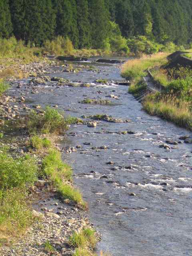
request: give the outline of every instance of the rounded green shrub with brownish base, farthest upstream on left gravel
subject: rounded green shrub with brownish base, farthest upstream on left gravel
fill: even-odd
[[[47,106],[43,115],[32,110],[29,116],[27,127],[30,133],[42,132],[60,133],[67,130],[68,122],[58,110]]]

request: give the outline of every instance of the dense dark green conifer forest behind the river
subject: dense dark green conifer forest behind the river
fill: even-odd
[[[0,0],[0,37],[41,45],[69,37],[76,48],[102,48],[118,24],[124,38],[160,44],[192,40],[191,0]]]

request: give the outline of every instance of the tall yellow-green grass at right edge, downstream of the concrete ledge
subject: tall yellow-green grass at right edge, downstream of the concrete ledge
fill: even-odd
[[[148,95],[143,102],[144,110],[151,115],[174,122],[192,130],[191,103],[173,95]]]

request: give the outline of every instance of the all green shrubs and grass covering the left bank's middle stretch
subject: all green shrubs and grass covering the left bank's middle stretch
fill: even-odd
[[[65,118],[50,107],[45,109],[44,115],[32,111],[27,124],[31,134],[28,153],[12,156],[9,148],[0,147],[0,244],[22,235],[33,222],[29,188],[38,179],[49,180],[60,198],[80,208],[86,207],[82,195],[72,184],[72,168],[62,161],[61,153],[49,140],[53,134],[65,132],[69,120],[74,122],[73,118]],[[34,154],[42,159],[41,165]]]

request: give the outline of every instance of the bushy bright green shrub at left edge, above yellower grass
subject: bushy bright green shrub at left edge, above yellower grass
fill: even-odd
[[[38,167],[34,158],[12,158],[7,152],[0,154],[0,189],[25,187],[37,179]]]

